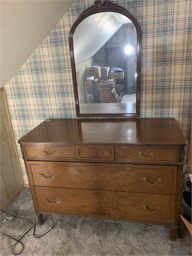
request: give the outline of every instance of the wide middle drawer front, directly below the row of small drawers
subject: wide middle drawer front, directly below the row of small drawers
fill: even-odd
[[[176,166],[27,161],[36,186],[174,194]]]

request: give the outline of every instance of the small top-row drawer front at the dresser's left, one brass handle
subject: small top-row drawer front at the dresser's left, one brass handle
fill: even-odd
[[[75,146],[25,146],[26,157],[77,159]]]

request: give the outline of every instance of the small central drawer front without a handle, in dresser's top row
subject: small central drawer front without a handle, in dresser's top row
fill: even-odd
[[[114,160],[113,146],[77,146],[77,159]]]

